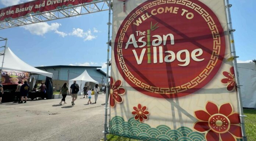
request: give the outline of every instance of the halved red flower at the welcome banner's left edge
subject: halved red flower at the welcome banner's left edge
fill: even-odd
[[[122,103],[123,99],[121,97],[122,94],[125,93],[124,88],[120,88],[122,85],[122,81],[118,80],[114,82],[114,79],[110,78],[110,106],[115,107],[115,103]]]

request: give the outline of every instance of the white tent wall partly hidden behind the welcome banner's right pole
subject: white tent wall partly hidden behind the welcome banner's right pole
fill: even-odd
[[[243,107],[256,108],[256,64],[238,63]]]

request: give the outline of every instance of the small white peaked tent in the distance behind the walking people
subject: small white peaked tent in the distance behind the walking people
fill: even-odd
[[[81,75],[79,75],[77,78],[71,79],[69,81],[69,87],[73,84],[74,81],[77,81],[77,84],[80,87],[79,92],[83,91],[83,86],[85,85],[86,82],[93,82],[95,84],[99,84],[98,81],[95,81],[92,77],[90,77],[90,75],[87,73],[87,71],[85,70]]]

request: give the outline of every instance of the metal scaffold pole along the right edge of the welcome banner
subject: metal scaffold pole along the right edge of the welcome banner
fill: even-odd
[[[240,114],[240,120],[241,120],[241,129],[242,129],[242,138],[243,141],[247,141],[246,138],[246,133],[245,133],[245,120],[243,115],[243,105],[242,105],[242,97],[241,97],[241,89],[239,88],[240,82],[239,82],[239,75],[238,75],[238,69],[237,69],[237,57],[235,53],[235,42],[234,42],[234,34],[233,32],[235,31],[232,27],[232,21],[231,21],[231,13],[230,13],[230,7],[232,6],[229,4],[229,0],[225,0],[226,4],[226,11],[227,11],[227,18],[228,18],[228,29],[230,31],[230,44],[231,44],[231,54],[234,56],[234,71],[235,71],[235,81],[237,83],[238,89],[237,89],[237,94],[238,94],[238,110]]]

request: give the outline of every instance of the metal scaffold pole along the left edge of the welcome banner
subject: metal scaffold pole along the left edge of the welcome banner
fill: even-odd
[[[109,131],[108,131],[108,128],[107,128],[107,110],[109,109],[108,108],[108,97],[109,97],[109,87],[110,87],[110,85],[109,85],[109,66],[110,66],[110,62],[109,62],[109,50],[110,50],[110,43],[111,43],[111,41],[110,41],[110,28],[111,28],[111,25],[112,25],[112,23],[111,23],[111,0],[109,0],[109,22],[107,23],[107,25],[109,26],[108,28],[108,38],[107,38],[107,76],[106,76],[106,83],[108,84],[107,85],[107,88],[106,88],[106,100],[105,100],[105,123],[104,123],[104,131],[103,131],[103,133],[104,133],[104,141],[107,141],[107,134],[109,133]],[[106,86],[105,86],[106,87]]]

